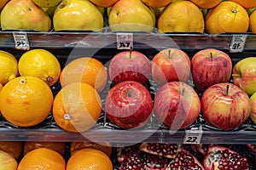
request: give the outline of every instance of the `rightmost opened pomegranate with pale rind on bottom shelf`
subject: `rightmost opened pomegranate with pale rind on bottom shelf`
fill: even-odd
[[[221,145],[210,145],[203,161],[206,170],[248,170],[247,157]]]

